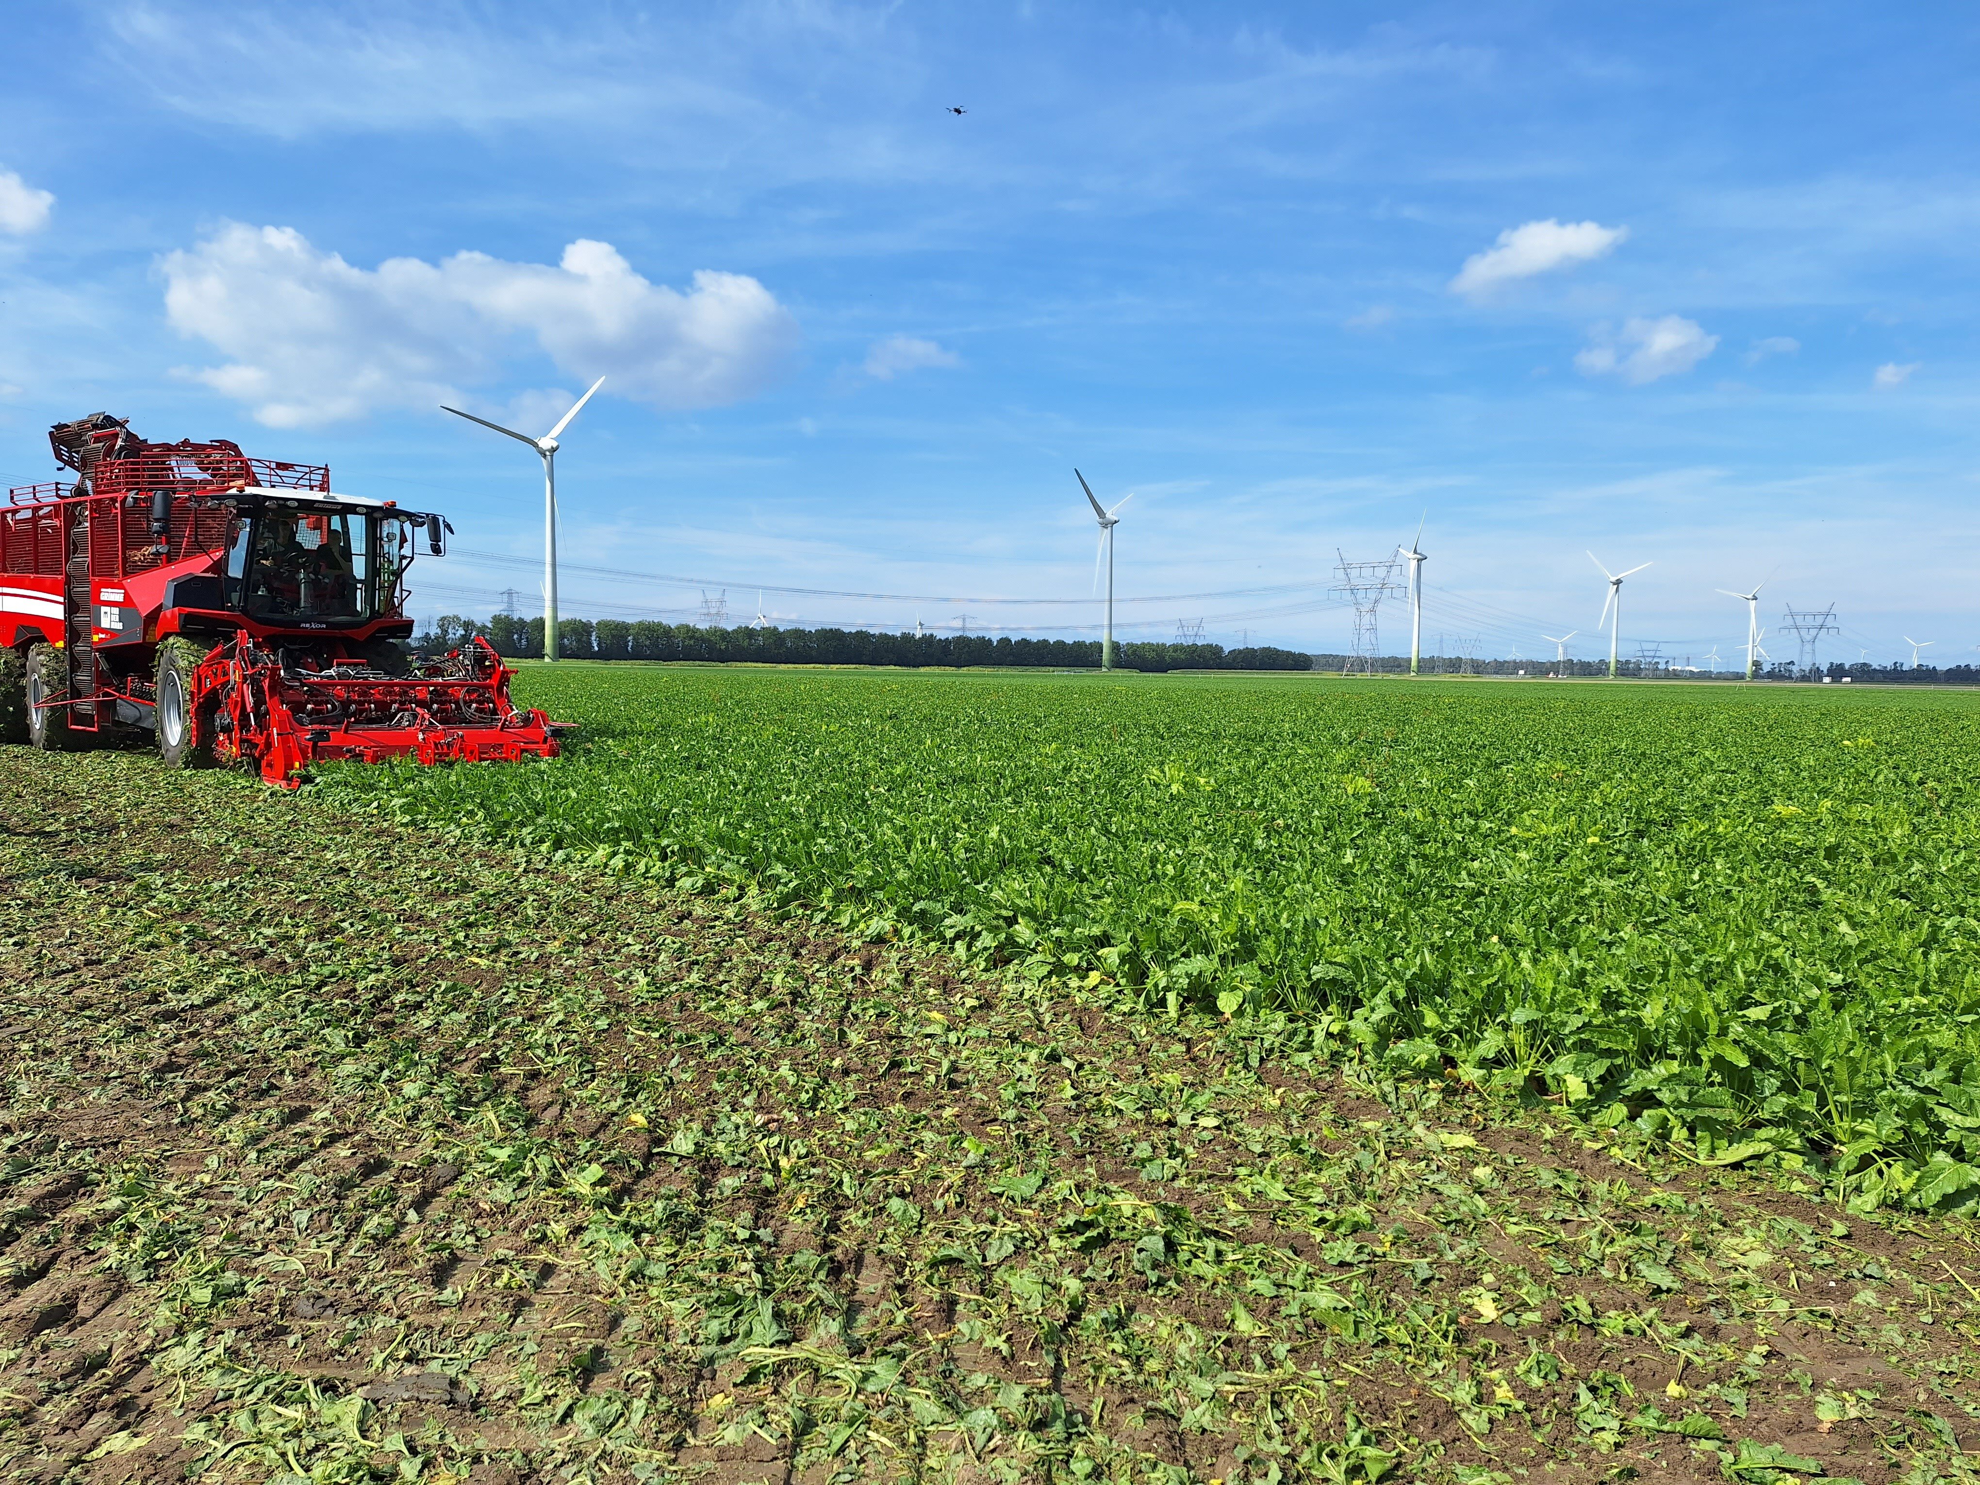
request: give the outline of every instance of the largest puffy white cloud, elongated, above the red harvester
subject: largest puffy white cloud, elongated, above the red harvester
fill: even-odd
[[[531,343],[618,396],[705,408],[756,392],[796,343],[752,277],[699,271],[683,293],[582,238],[556,267],[465,251],[362,269],[293,228],[230,224],[162,269],[172,325],[234,358],[192,374],[271,428],[432,408]]]

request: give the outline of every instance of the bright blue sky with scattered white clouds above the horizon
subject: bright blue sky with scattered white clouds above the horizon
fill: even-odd
[[[0,473],[97,408],[444,507],[420,612],[1974,655],[1952,6],[14,6]],[[966,109],[948,113],[950,105]],[[471,552],[471,554],[469,554]],[[493,554],[509,562],[493,560]],[[832,598],[776,588],[923,598]],[[1267,592],[1249,594],[1261,588]],[[1238,594],[1166,598],[1168,594]],[[1057,602],[986,602],[1057,600]],[[1065,602],[1075,600],[1075,602]],[[1406,626],[1384,610],[1384,649]],[[1135,628],[1138,626],[1138,628]],[[1768,645],[1792,655],[1792,645]]]

